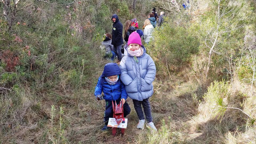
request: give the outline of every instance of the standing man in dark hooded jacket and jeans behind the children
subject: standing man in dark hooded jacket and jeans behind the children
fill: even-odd
[[[112,15],[111,20],[113,22],[111,44],[113,45],[114,52],[118,58],[117,64],[120,64],[120,61],[122,60],[121,47],[123,44],[123,25],[116,14]]]

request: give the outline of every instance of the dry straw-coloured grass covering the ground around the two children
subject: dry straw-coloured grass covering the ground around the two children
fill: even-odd
[[[1,107],[6,111],[1,111],[0,142],[51,143],[51,105],[55,105],[56,111],[59,106],[64,110],[62,129],[66,143],[255,143],[255,128],[248,126],[245,115],[227,110],[220,123],[213,109],[214,97],[222,95],[229,106],[243,108],[255,116],[255,93],[248,91],[250,87],[238,81],[233,85],[218,82],[203,96],[205,90],[198,81],[187,76],[193,72],[181,70],[169,80],[154,81],[155,93],[150,102],[157,133],[151,133],[146,127],[136,128],[138,118],[129,98],[131,113],[127,116],[125,135],[118,131],[113,137],[111,131],[102,132],[105,101],[95,101],[94,86],[88,86],[89,89],[82,90],[78,105],[76,96],[67,91],[43,94],[37,96],[37,100],[29,96],[33,94],[22,93],[17,96],[20,99],[17,107],[10,106],[12,98],[2,97]],[[101,70],[97,70],[95,78],[100,73]],[[58,121],[56,113],[54,128],[58,128]]]

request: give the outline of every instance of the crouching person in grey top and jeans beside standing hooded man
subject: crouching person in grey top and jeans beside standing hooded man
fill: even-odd
[[[117,56],[113,50],[113,45],[111,45],[111,40],[112,36],[110,33],[106,34],[106,38],[103,40],[103,42],[101,43],[103,46],[105,46],[105,50],[106,50],[106,58],[110,59],[111,61],[114,60],[114,58]]]

